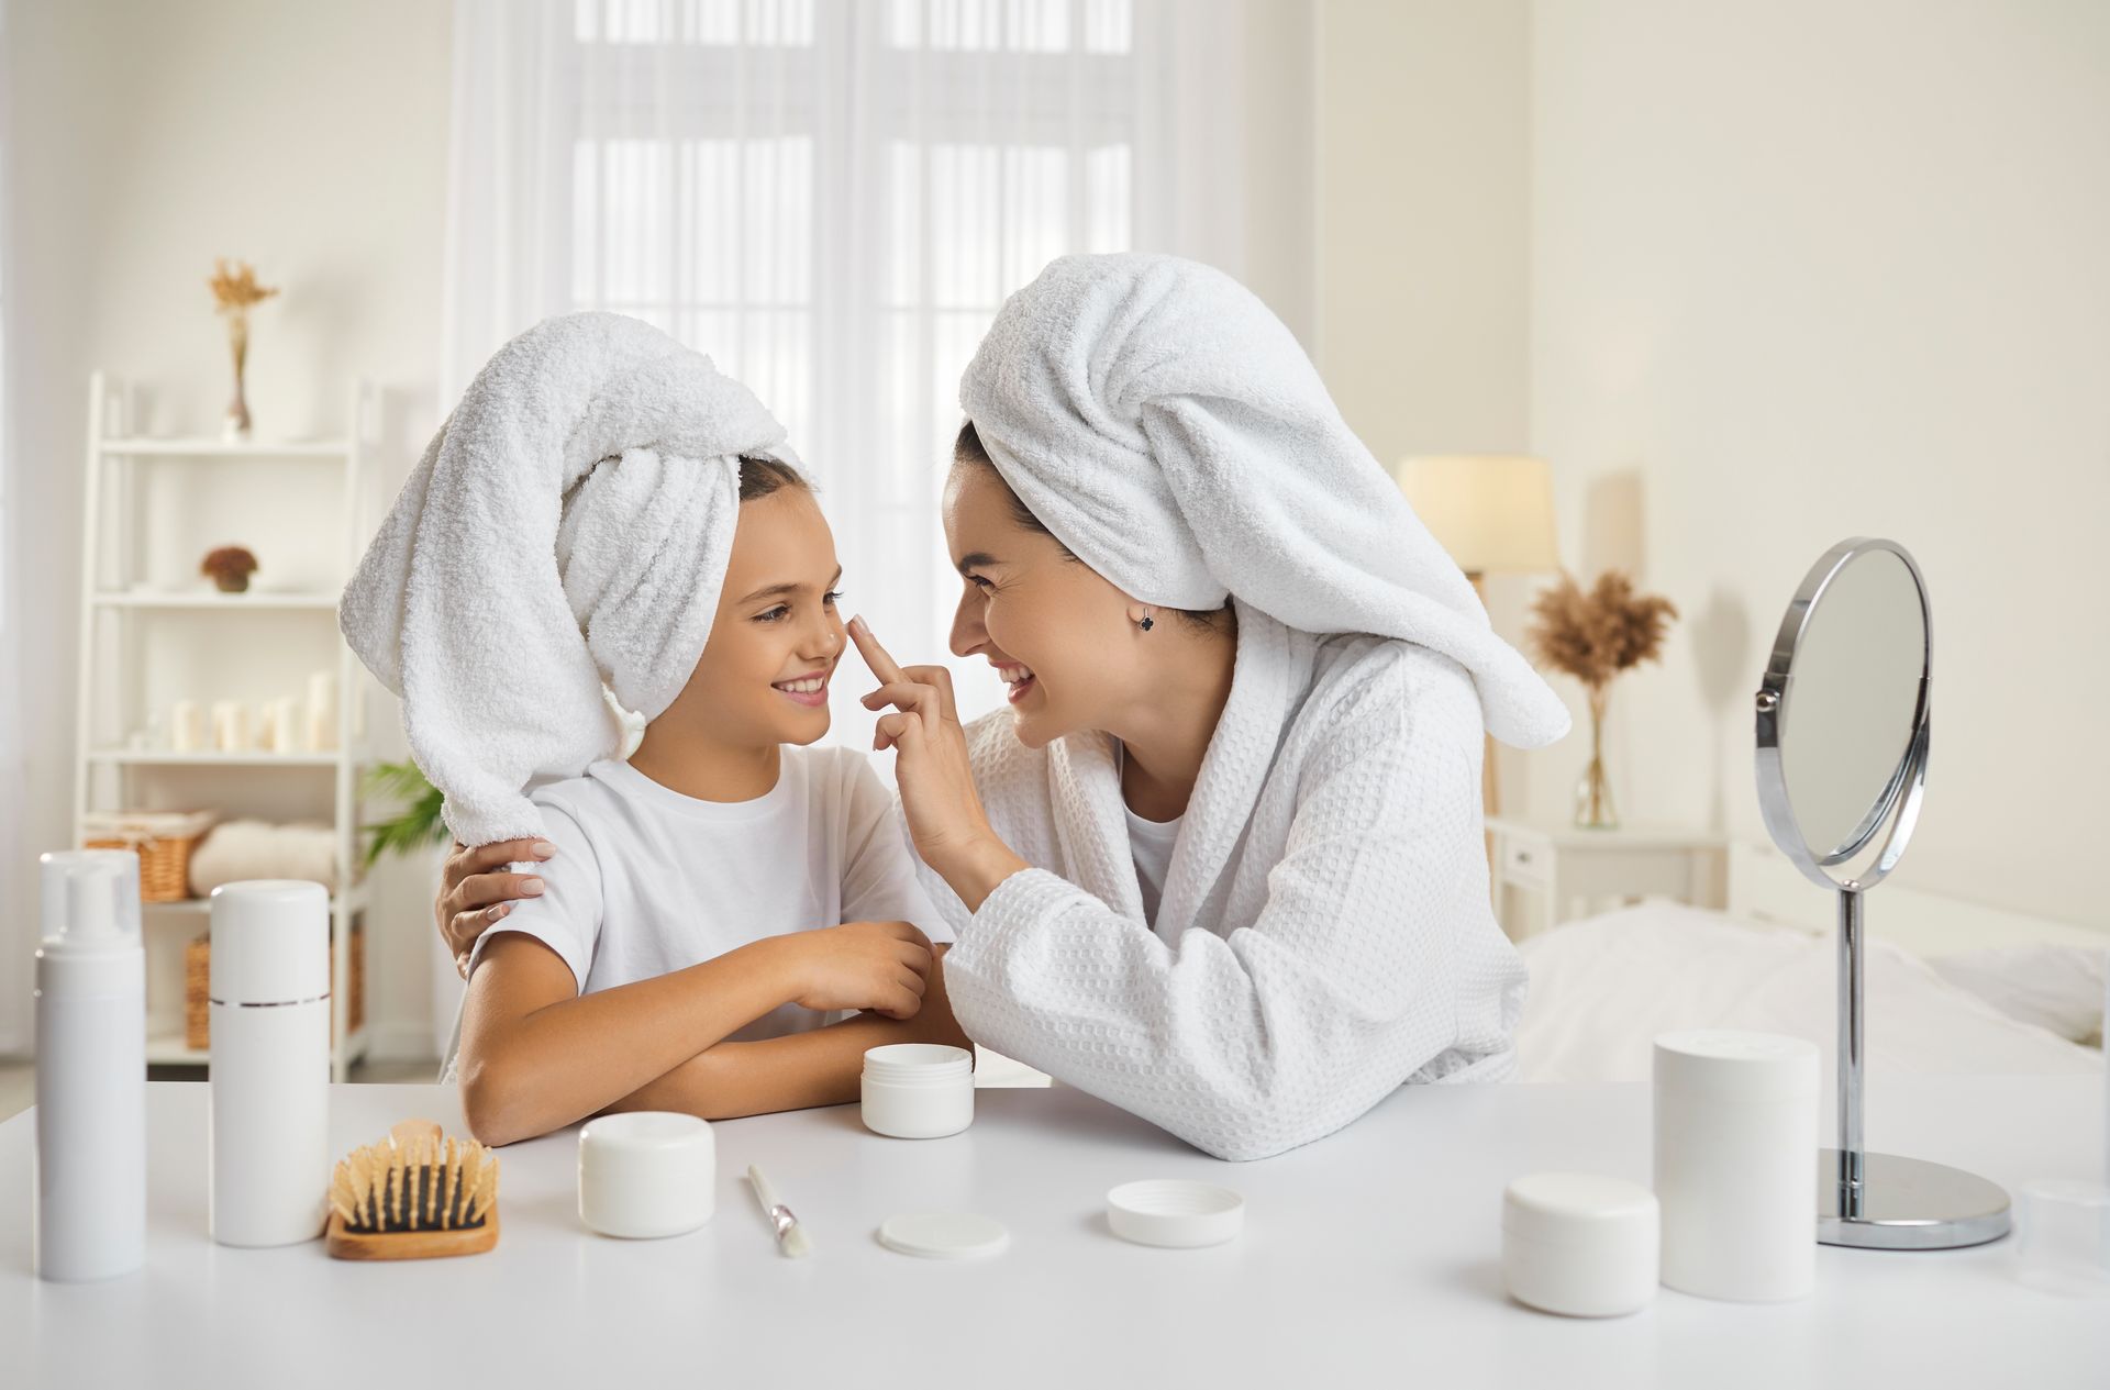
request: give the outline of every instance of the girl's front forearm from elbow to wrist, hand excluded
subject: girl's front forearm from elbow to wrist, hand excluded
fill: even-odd
[[[546,945],[485,947],[462,1015],[462,1109],[485,1143],[563,1128],[724,1042],[795,996],[783,937],[686,970],[574,993]]]

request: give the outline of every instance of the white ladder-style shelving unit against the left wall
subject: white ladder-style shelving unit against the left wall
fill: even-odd
[[[365,1000],[365,1027],[348,1027],[350,979],[352,979],[352,928],[367,907],[367,888],[359,873],[359,780],[369,766],[365,740],[365,671],[350,648],[338,639],[335,610],[338,588],[359,563],[365,542],[361,529],[361,508],[367,498],[367,453],[376,422],[376,392],[365,382],[350,388],[346,437],[283,443],[230,443],[222,439],[146,439],[133,435],[129,392],[116,380],[95,373],[89,382],[89,458],[87,458],[87,510],[82,523],[82,569],[80,569],[80,673],[78,673],[78,751],[74,768],[74,835],[84,839],[84,816],[97,810],[234,810],[245,812],[257,797],[270,804],[321,804],[327,797],[329,825],[338,844],[340,890],[329,903],[329,943],[333,962],[331,989],[331,1076],[346,1080],[348,1067],[367,1050],[373,1019],[371,989]],[[238,496],[249,510],[255,502],[272,494],[272,483],[281,483],[276,472],[298,472],[308,479],[316,468],[335,468],[338,489],[333,515],[327,519],[283,517],[291,527],[270,536],[281,551],[298,551],[295,567],[306,569],[304,584],[289,591],[257,591],[226,595],[203,580],[186,576],[190,586],[173,586],[167,574],[148,574],[150,544],[148,527],[158,519],[152,515],[154,491],[184,489],[190,483],[169,481],[169,470],[198,468],[247,468],[245,479],[255,483]],[[262,475],[262,477],[257,477]],[[306,483],[310,496],[325,489],[323,483]],[[257,521],[251,521],[257,525]],[[312,544],[304,529],[321,529]],[[291,540],[289,540],[291,538]],[[327,540],[325,540],[327,538]],[[262,540],[262,538],[260,538]],[[207,536],[194,542],[190,555],[203,555],[205,546],[222,544],[226,538]],[[333,551],[335,563],[327,563],[321,551]],[[316,561],[316,563],[310,563]],[[194,563],[194,559],[190,561]],[[335,574],[323,574],[333,569]],[[158,586],[156,586],[158,578]],[[215,626],[243,622],[279,624],[321,624],[312,635],[287,635],[283,629],[266,633],[264,645],[234,648],[236,652],[270,654],[272,645],[312,643],[327,650],[327,662],[338,673],[338,732],[331,751],[298,753],[219,753],[184,751],[165,747],[135,747],[133,734],[152,728],[152,717],[160,709],[150,707],[152,681],[143,671],[141,650],[154,637],[154,624],[207,622]],[[215,631],[215,641],[226,648],[241,641],[238,635]],[[325,648],[327,643],[327,648]],[[186,698],[211,698],[215,692],[190,692]],[[232,696],[219,696],[232,698]],[[327,778],[323,785],[314,785]],[[152,783],[152,785],[150,785]],[[327,791],[325,791],[327,787]],[[173,802],[156,806],[154,802]],[[302,816],[308,818],[308,816]],[[181,943],[203,930],[209,922],[209,905],[203,899],[179,903],[148,903],[148,1063],[150,1065],[205,1065],[209,1053],[194,1050],[184,1042],[181,1002]],[[169,937],[175,937],[173,949]],[[169,962],[175,968],[169,968]],[[371,979],[371,977],[369,977]],[[173,991],[173,1008],[171,1008]],[[171,1027],[173,1019],[173,1027]]]

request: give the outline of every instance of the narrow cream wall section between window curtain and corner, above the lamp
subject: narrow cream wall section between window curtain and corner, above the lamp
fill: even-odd
[[[1530,428],[1530,4],[1321,0],[1312,356],[1380,462]]]

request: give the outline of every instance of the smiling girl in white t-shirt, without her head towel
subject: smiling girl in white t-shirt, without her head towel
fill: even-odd
[[[738,496],[688,686],[627,764],[534,793],[540,892],[471,953],[462,1109],[485,1143],[601,1109],[840,1105],[865,1048],[966,1046],[893,795],[861,753],[804,747],[844,650],[827,521],[772,460],[741,460]],[[867,1012],[823,1027],[846,1008]]]

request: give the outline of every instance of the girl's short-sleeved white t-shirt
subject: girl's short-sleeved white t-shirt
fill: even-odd
[[[842,922],[952,930],[916,882],[895,799],[855,749],[785,747],[776,787],[753,802],[698,802],[625,761],[532,793],[555,858],[483,943],[521,932],[572,966],[580,993],[713,960],[764,937]],[[736,1040],[821,1027],[783,1004]]]

